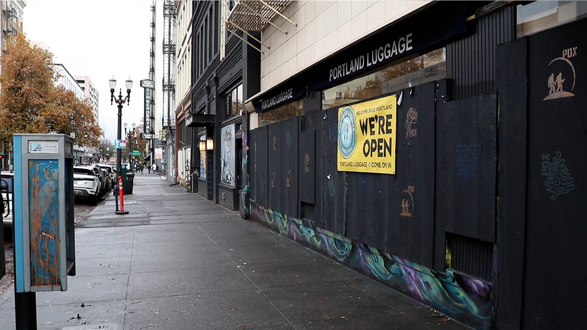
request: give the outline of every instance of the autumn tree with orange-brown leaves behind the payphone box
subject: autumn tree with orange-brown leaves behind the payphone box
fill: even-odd
[[[21,33],[6,42],[0,74],[0,142],[12,145],[14,133],[75,134],[79,146],[98,146],[102,129],[87,100],[56,86],[53,54],[31,46]]]

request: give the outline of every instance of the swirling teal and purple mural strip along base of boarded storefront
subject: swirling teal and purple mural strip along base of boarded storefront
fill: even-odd
[[[323,228],[310,228],[302,220],[266,207],[252,207],[251,211],[253,220],[346,267],[464,324],[491,328],[492,288],[483,281],[424,267]]]

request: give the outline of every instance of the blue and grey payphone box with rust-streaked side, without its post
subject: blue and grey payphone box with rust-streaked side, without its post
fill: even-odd
[[[14,134],[16,292],[66,291],[75,275],[73,139]]]

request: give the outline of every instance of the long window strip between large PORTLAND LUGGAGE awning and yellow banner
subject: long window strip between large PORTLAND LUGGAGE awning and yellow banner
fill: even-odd
[[[322,109],[443,78],[446,78],[446,50],[441,48],[324,90]]]

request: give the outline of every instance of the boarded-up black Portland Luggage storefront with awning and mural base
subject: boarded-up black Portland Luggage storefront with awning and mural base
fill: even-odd
[[[473,328],[580,328],[587,21],[519,35],[521,6],[432,3],[248,100],[259,118],[303,109],[244,121],[251,218]],[[376,95],[325,101],[333,86],[438,53]],[[389,149],[363,149],[393,150],[393,163],[341,163],[341,114],[382,100],[393,116],[351,128],[393,130]]]

